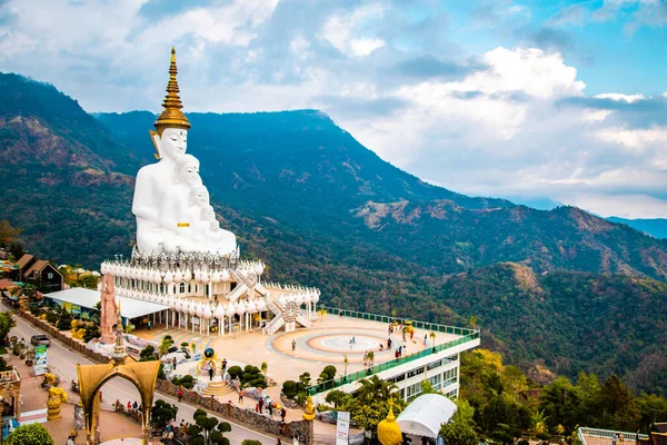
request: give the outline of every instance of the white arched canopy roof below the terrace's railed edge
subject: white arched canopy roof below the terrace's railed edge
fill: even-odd
[[[441,394],[425,394],[408,405],[396,419],[400,431],[426,437],[438,437],[440,425],[456,413],[456,404]]]

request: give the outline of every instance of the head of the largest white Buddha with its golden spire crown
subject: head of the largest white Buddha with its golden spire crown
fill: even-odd
[[[171,48],[171,65],[169,66],[169,83],[167,83],[167,96],[162,102],[165,110],[153,123],[156,129],[151,130],[151,138],[158,150],[158,159],[176,160],[186,154],[188,149],[188,130],[190,122],[181,108],[183,108],[178,96],[178,82],[176,80],[176,49]]]

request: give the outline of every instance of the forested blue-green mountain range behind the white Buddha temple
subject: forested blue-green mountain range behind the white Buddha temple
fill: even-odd
[[[522,366],[617,372],[635,389],[667,389],[653,375],[665,364],[643,360],[664,356],[667,327],[646,328],[645,313],[628,310],[665,318],[666,240],[574,207],[426,184],[317,110],[188,119],[188,151],[222,226],[245,256],[267,261],[266,279],[319,286],[323,303],[351,309],[445,324],[475,316],[487,346]],[[153,121],[148,111],[93,116],[50,85],[0,75],[3,218],[57,261],[94,268],[127,256]],[[617,330],[586,330],[595,326]]]

